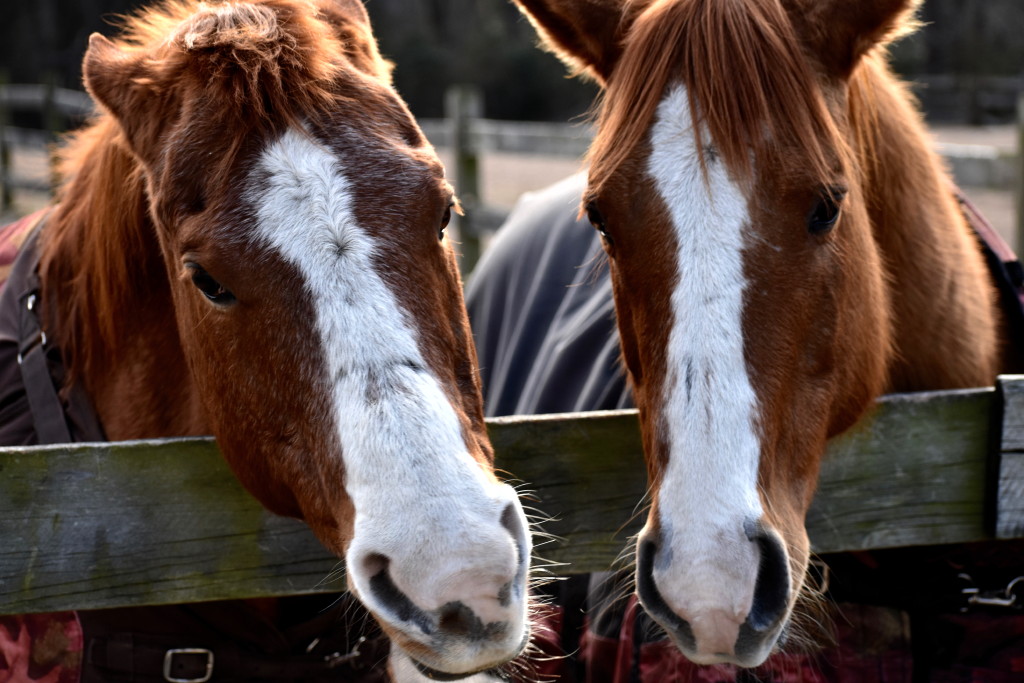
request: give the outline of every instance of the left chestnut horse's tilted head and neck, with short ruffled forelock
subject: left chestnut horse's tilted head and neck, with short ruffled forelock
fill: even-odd
[[[357,0],[169,0],[92,36],[43,327],[111,439],[213,433],[427,672],[528,635],[437,156]]]

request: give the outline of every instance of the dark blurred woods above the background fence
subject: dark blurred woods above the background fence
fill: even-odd
[[[856,0],[851,0],[856,1]],[[0,0],[0,80],[80,88],[80,62],[93,31],[131,0]],[[593,86],[565,78],[537,49],[532,28],[510,0],[368,0],[395,82],[419,117],[439,117],[445,88],[474,83],[485,115],[565,121],[584,114]],[[998,123],[1013,118],[1024,77],[1024,0],[927,0],[928,23],[895,50],[916,82],[929,118]]]

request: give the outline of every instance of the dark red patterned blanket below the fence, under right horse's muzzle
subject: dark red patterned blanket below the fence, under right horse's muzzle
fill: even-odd
[[[836,605],[836,642],[813,653],[778,653],[757,669],[700,667],[669,640],[637,638],[630,598],[617,638],[587,629],[579,652],[586,683],[1021,683],[1024,618],[1019,613],[940,613],[912,621],[893,607]],[[912,629],[911,629],[912,623]],[[914,638],[927,654],[914,661]],[[919,643],[921,648],[922,644]],[[639,654],[639,660],[637,660]],[[916,678],[914,670],[916,669]]]

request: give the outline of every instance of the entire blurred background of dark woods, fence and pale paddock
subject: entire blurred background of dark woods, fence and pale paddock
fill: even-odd
[[[46,143],[89,111],[80,91],[88,35],[112,34],[117,14],[141,4],[0,3],[4,218],[49,199]],[[534,29],[510,0],[367,0],[367,8],[395,62],[396,87],[455,178],[472,262],[476,238],[522,193],[581,168],[596,88],[567,79],[554,56],[537,49]],[[1022,175],[1024,1],[926,0],[921,18],[922,31],[894,47],[894,67],[910,80],[957,181],[1020,248],[1024,211],[1015,207],[1024,198],[1015,199],[1014,188]]]

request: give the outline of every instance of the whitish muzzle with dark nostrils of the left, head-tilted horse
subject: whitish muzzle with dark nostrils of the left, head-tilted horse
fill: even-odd
[[[518,499],[505,501],[489,522],[478,517],[418,549],[385,551],[386,541],[350,549],[359,597],[431,675],[498,666],[525,644],[529,539]]]

